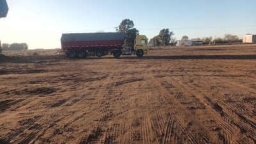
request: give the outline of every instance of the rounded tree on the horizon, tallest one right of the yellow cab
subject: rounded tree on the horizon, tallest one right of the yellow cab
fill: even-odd
[[[170,32],[168,28],[162,29],[158,35],[158,39],[161,42],[161,45],[168,45],[173,35],[173,31]]]

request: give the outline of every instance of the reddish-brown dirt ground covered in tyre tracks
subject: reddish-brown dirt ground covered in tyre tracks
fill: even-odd
[[[0,56],[0,143],[256,143],[256,45],[31,52]]]

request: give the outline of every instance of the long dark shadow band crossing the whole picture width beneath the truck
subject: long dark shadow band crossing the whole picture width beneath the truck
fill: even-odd
[[[240,55],[180,55],[180,56],[120,56],[114,58],[112,56],[102,56],[100,58],[92,56],[83,59],[69,59],[66,56],[1,56],[1,63],[54,63],[61,60],[256,60],[256,54],[240,54]]]

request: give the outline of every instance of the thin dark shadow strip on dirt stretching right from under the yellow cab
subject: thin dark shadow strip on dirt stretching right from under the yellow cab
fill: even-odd
[[[189,56],[125,56],[118,59],[142,59],[142,60],[256,60],[256,54],[245,55],[189,55]]]

